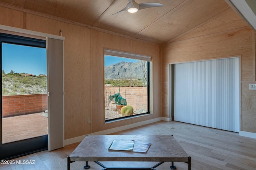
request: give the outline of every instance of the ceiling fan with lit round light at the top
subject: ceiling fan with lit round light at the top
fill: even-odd
[[[134,12],[137,12],[138,10],[143,10],[143,9],[146,9],[146,8],[152,8],[152,7],[160,7],[160,6],[163,6],[163,4],[160,4],[160,3],[141,3],[141,4],[138,4],[137,2],[135,2],[135,0],[128,0],[130,1],[126,7],[122,10],[120,10],[119,12],[116,12],[115,14],[119,14],[119,13],[122,13],[122,12],[125,12],[125,11],[128,11],[130,13],[134,13]],[[114,15],[114,14],[112,14]]]

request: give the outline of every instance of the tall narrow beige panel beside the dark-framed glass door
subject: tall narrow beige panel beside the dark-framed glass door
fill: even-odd
[[[48,60],[48,150],[64,147],[63,40],[46,38]]]

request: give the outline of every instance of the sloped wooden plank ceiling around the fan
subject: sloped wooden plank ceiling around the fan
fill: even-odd
[[[230,9],[225,0],[136,0],[163,7],[112,15],[128,0],[0,0],[24,11],[36,11],[81,23],[91,28],[164,45]]]

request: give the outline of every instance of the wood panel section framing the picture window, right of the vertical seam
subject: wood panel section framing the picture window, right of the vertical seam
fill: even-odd
[[[152,56],[153,69],[153,96],[159,96],[160,85],[160,47],[157,45],[147,44],[143,42],[134,41],[131,39],[110,35],[95,30],[91,30],[91,133],[110,129],[118,126],[129,125],[147,119],[160,117],[160,110],[154,111],[154,114],[132,119],[125,119],[122,121],[107,123],[104,120],[104,49],[114,49],[118,51],[126,51],[130,53],[138,53]],[[160,106],[160,98],[155,97],[153,106]],[[159,108],[159,107],[158,107]]]

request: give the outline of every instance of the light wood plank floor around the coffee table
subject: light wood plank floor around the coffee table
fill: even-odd
[[[256,170],[256,139],[241,137],[238,133],[222,131],[180,122],[159,121],[142,127],[113,133],[112,135],[174,135],[183,149],[192,157],[192,170]],[[35,160],[30,165],[0,165],[2,170],[65,170],[66,157],[78,143],[51,152],[43,151],[16,160]],[[107,166],[152,166],[155,162],[104,162]],[[102,170],[88,162],[90,170]],[[85,162],[73,162],[71,170],[84,170]],[[170,162],[156,170],[170,170]],[[177,170],[187,170],[184,162],[174,162]]]

